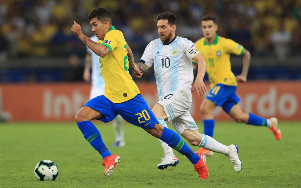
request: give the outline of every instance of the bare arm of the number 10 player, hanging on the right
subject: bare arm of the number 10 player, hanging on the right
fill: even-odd
[[[196,89],[198,95],[202,95],[202,93],[205,95],[207,92],[207,88],[205,86],[205,83],[203,82],[203,78],[206,73],[206,62],[203,56],[201,55],[201,53],[195,55],[192,60],[197,62],[198,67],[197,67],[197,77],[195,79],[194,85],[191,88],[191,92],[193,92],[194,89]]]

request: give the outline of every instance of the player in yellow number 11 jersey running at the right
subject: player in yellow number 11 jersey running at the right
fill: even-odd
[[[201,28],[204,37],[195,43],[195,46],[206,61],[206,72],[210,82],[210,92],[202,102],[200,111],[203,116],[204,134],[213,137],[214,119],[212,111],[216,106],[223,110],[237,123],[247,123],[255,126],[267,126],[274,133],[276,140],[281,138],[277,129],[278,120],[275,117],[264,119],[252,113],[246,113],[238,105],[240,99],[236,95],[237,82],[246,82],[250,65],[250,52],[231,39],[219,36],[217,19],[213,16],[204,16],[201,19]],[[231,71],[230,54],[243,56],[242,72],[234,76]],[[212,155],[213,152],[201,148],[197,152]]]

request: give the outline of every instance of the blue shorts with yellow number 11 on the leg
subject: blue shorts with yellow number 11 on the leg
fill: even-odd
[[[221,83],[216,84],[206,96],[206,99],[221,106],[228,114],[232,106],[239,103],[240,99],[236,95],[237,86],[228,86]]]

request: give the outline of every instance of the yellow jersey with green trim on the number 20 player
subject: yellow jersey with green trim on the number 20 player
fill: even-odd
[[[138,86],[129,74],[128,52],[123,33],[112,26],[104,40],[98,40],[98,43],[109,47],[111,51],[105,57],[99,57],[105,83],[104,96],[113,103],[122,103],[140,94]]]

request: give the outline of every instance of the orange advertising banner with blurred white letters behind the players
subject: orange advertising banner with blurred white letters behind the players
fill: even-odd
[[[150,108],[158,99],[156,83],[137,83]],[[209,86],[208,83],[206,83]],[[11,121],[73,121],[88,101],[91,84],[0,84],[0,107]],[[209,92],[209,88],[208,92]],[[280,120],[301,120],[301,81],[240,83],[237,87],[243,111]],[[202,120],[200,104],[204,96],[193,92],[191,115]],[[213,111],[216,120],[230,120],[222,108]]]

